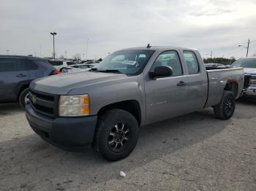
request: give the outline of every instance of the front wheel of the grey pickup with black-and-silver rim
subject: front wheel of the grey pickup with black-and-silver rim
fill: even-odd
[[[99,117],[94,149],[110,161],[127,157],[135,148],[139,127],[135,117],[121,109],[111,109]]]

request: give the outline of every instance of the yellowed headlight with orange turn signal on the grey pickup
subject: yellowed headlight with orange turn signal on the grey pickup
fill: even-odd
[[[89,115],[89,96],[61,95],[59,99],[60,117],[79,117]]]

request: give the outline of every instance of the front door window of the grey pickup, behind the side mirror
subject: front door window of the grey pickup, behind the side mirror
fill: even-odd
[[[173,77],[183,75],[178,53],[174,50],[162,52],[154,62],[152,69],[154,70],[157,66],[170,66],[173,69]]]

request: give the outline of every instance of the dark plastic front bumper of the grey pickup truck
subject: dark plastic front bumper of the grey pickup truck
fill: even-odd
[[[34,112],[27,104],[26,118],[35,133],[56,146],[69,149],[93,142],[97,116],[53,119]]]

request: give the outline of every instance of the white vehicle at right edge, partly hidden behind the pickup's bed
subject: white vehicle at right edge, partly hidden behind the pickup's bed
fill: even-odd
[[[231,67],[244,68],[244,96],[256,98],[256,58],[241,58]]]

